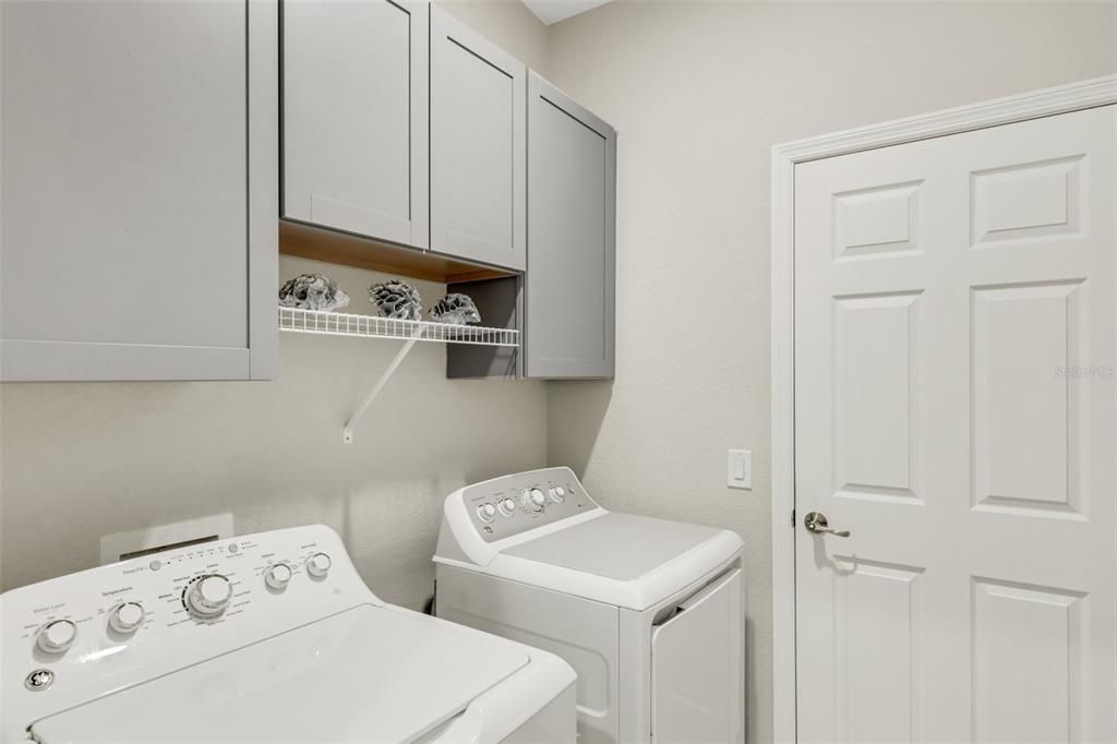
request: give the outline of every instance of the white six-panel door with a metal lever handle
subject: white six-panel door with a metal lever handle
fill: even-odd
[[[1115,142],[796,165],[802,741],[1117,740]]]

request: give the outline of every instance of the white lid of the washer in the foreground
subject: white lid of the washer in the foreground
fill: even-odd
[[[527,664],[504,639],[362,605],[44,718],[31,732],[42,744],[404,742]]]

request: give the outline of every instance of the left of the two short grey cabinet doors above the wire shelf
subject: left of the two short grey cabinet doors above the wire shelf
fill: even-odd
[[[427,247],[428,4],[283,4],[284,217]]]

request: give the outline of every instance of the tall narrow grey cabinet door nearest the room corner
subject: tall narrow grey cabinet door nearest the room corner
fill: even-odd
[[[528,79],[525,374],[613,376],[617,133]]]

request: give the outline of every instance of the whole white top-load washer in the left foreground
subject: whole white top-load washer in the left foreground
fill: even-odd
[[[574,742],[551,654],[376,599],[297,527],[0,595],[0,741]]]

